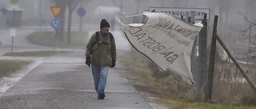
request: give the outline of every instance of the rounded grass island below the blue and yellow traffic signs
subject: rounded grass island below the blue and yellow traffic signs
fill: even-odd
[[[64,34],[62,40],[57,40],[52,31],[37,31],[31,33],[27,37],[27,40],[36,45],[55,46],[60,48],[83,47],[86,45],[86,39],[88,39],[87,32],[71,32],[70,44],[67,43],[67,33],[65,32]]]

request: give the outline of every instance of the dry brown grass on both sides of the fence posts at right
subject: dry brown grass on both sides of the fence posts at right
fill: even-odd
[[[200,107],[240,109],[254,108],[242,107],[242,105],[251,106],[256,103],[256,101],[254,101],[255,94],[248,84],[230,83],[223,80],[225,78],[225,80],[231,81],[234,77],[239,78],[242,76],[232,64],[218,64],[218,66],[215,66],[212,98],[213,103],[216,105],[209,105],[207,103],[201,103],[202,91],[198,91],[200,88],[197,88],[197,85],[187,84],[180,76],[172,72],[159,72],[158,68],[156,68],[150,60],[146,59],[145,56],[142,56],[142,54],[137,52],[126,53],[126,55],[118,59],[125,64],[128,71],[130,71],[127,75],[135,76],[130,76],[130,80],[131,83],[134,83],[134,87],[137,88],[138,91],[158,96],[162,99],[162,103],[167,103],[166,105],[171,104],[171,107],[177,106],[179,108],[180,106],[184,106],[184,108],[192,109],[199,107],[196,105],[205,105]],[[252,76],[255,75],[251,75],[250,77]],[[222,106],[222,104],[226,105]],[[192,105],[192,107],[190,107],[190,105]]]

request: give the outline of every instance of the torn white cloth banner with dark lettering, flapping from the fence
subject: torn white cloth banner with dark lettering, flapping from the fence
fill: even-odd
[[[117,19],[128,41],[165,71],[177,72],[186,81],[194,81],[190,72],[190,54],[202,27],[190,25],[170,14],[143,13],[145,24],[124,24]]]

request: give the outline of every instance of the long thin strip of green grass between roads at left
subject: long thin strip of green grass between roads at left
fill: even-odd
[[[5,53],[3,56],[54,56],[59,53],[58,51],[33,51],[33,52],[22,52],[22,53]]]

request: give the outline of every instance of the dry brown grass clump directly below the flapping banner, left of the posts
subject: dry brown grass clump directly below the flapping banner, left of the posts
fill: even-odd
[[[197,92],[192,85],[184,82],[180,76],[173,72],[160,72],[150,60],[140,53],[127,53],[119,60],[127,66],[132,75],[136,76],[136,78],[130,77],[129,79],[136,80],[137,84],[134,84],[134,87],[139,91],[157,95],[162,99],[187,98],[190,101],[198,99],[194,97]]]

